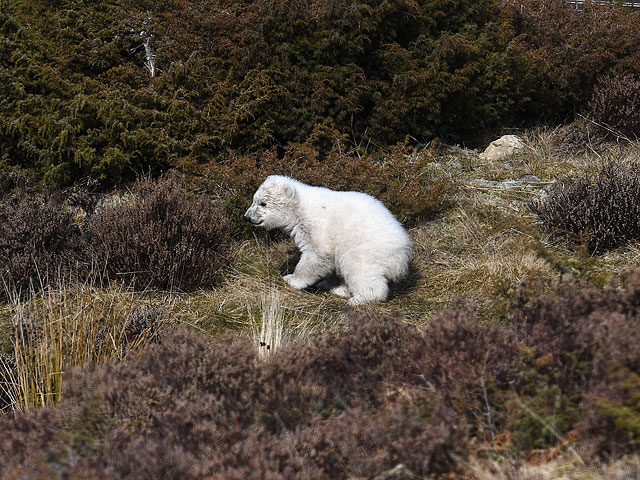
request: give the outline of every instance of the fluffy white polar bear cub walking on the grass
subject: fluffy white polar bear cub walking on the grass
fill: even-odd
[[[389,281],[407,276],[411,240],[377,199],[360,192],[313,187],[271,175],[260,185],[244,218],[280,229],[301,256],[284,280],[293,288],[316,285],[349,298],[349,304],[385,301]],[[330,287],[327,278],[341,283]]]

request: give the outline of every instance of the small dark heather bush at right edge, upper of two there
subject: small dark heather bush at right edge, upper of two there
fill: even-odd
[[[591,116],[605,133],[640,136],[640,78],[608,77],[596,85],[591,97]]]

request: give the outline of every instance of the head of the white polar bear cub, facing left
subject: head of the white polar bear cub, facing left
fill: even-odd
[[[295,201],[295,180],[271,175],[253,195],[253,203],[245,212],[244,219],[268,230],[288,230],[295,223]]]

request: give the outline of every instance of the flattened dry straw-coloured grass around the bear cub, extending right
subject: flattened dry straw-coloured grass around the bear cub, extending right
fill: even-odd
[[[567,147],[567,135],[577,137],[580,148]],[[603,284],[637,263],[640,253],[633,246],[589,258],[551,241],[527,207],[559,176],[595,170],[607,159],[640,158],[638,144],[600,144],[589,135],[585,121],[528,131],[523,152],[495,162],[459,147],[421,151],[436,160],[427,164],[441,172],[439,177],[455,179],[459,188],[443,214],[410,230],[415,244],[411,278],[397,286],[386,304],[368,308],[400,310],[407,320],[424,322],[463,299],[477,305],[482,319],[499,321],[523,280],[569,271]],[[236,263],[221,287],[182,296],[176,306],[203,330],[246,330],[254,324],[248,311],[261,311],[263,292],[275,290],[288,324],[304,321],[315,331],[339,328],[350,309],[344,299],[293,290],[282,281],[295,265],[294,254],[293,243],[284,237],[256,232],[253,240],[234,247]]]

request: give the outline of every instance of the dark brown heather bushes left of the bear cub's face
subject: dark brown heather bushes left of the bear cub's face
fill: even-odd
[[[92,188],[26,188],[0,201],[0,296],[87,278],[186,291],[220,281],[229,226],[213,202],[170,178],[108,201]]]

